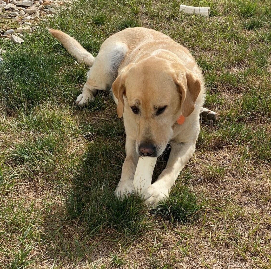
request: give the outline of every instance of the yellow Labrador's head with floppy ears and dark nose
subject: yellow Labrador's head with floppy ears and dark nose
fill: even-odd
[[[201,81],[181,64],[149,57],[125,68],[112,85],[118,99],[117,114],[132,128],[127,136],[136,140],[139,155],[157,157],[173,135],[180,115],[195,108]],[[133,129],[135,134],[129,134]]]

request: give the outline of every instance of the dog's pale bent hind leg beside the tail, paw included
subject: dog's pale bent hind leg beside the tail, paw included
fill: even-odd
[[[87,81],[82,93],[77,97],[76,104],[88,105],[95,100],[97,90],[110,89],[117,77],[118,67],[128,51],[124,43],[114,43],[99,51],[93,66],[87,73]]]

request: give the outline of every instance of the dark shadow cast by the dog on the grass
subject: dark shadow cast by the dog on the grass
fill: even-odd
[[[100,99],[108,102],[106,95],[99,94],[93,108],[89,107],[86,112],[93,110],[95,113],[101,109],[104,113],[104,104]],[[106,118],[101,116],[99,121],[92,123],[86,121],[88,113],[80,113],[83,117],[85,115],[85,120],[82,119],[82,131],[91,132],[93,139],[83,135],[90,142],[85,153],[80,156],[80,165],[75,167],[70,163],[68,168],[69,173],[74,175],[72,184],[67,184],[72,185],[72,188],[67,190],[64,206],[45,221],[41,237],[47,245],[48,257],[55,260],[56,265],[98,260],[118,251],[120,246],[127,248],[138,240],[146,241],[150,233],[155,233],[161,223],[168,221],[173,215],[176,215],[177,222],[192,220],[193,213],[199,209],[193,207],[198,201],[190,199],[191,196],[186,198],[184,210],[176,208],[172,213],[173,205],[184,205],[181,200],[185,199],[186,193],[177,195],[179,186],[172,192],[169,202],[163,203],[163,214],[160,214],[161,211],[148,210],[142,199],[136,195],[118,200],[114,196],[114,190],[121,177],[125,158],[123,123],[114,113],[108,113]],[[158,159],[154,181],[165,167],[169,152],[168,148]],[[196,212],[192,212],[193,210]],[[168,218],[165,217],[167,215]]]

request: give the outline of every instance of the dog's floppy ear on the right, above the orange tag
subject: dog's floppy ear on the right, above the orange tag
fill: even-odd
[[[185,73],[182,77],[183,79],[180,79],[180,76],[175,76],[174,80],[182,98],[182,115],[188,117],[195,109],[195,102],[201,90],[201,81],[191,73]]]

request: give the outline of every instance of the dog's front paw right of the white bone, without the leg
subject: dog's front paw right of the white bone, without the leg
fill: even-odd
[[[161,182],[162,183],[162,182]],[[154,182],[144,192],[144,199],[146,205],[156,206],[160,201],[167,199],[170,189],[161,184]]]

